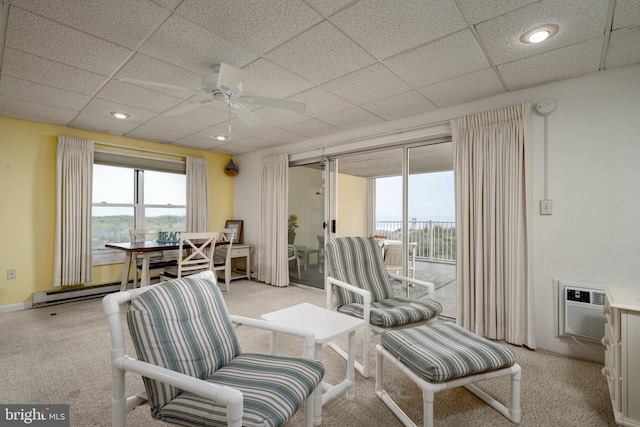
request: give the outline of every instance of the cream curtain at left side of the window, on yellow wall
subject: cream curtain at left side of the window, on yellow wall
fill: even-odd
[[[58,136],[53,286],[91,281],[93,141]]]

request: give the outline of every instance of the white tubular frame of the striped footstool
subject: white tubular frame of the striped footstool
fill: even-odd
[[[398,368],[411,381],[413,381],[422,390],[423,400],[423,425],[424,427],[433,427],[433,400],[434,394],[455,387],[464,386],[467,390],[478,396],[485,403],[490,405],[496,411],[504,415],[509,421],[519,424],[521,419],[520,408],[520,383],[522,379],[522,369],[520,365],[513,365],[497,369],[494,371],[481,372],[475,375],[468,375],[462,378],[456,378],[442,383],[430,383],[416,375],[409,367],[402,363],[397,357],[387,351],[382,344],[376,345],[376,395],[387,405],[396,417],[406,427],[416,427],[416,424],[409,416],[398,406],[398,404],[384,390],[383,379],[383,360],[388,360],[392,365]],[[475,384],[478,381],[498,378],[505,375],[511,376],[511,406],[507,408],[504,404],[488,395],[486,392],[478,388]]]

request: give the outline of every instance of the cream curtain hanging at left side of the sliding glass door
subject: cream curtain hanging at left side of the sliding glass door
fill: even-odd
[[[273,286],[288,286],[289,160],[286,154],[262,159],[261,194],[258,280]]]

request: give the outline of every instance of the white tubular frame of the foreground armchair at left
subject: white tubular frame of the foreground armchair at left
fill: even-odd
[[[198,275],[194,275],[194,277],[201,277],[211,280],[214,283],[216,280],[215,275],[211,271],[198,273]],[[127,354],[120,306],[128,304],[150,289],[152,289],[152,287],[147,286],[129,291],[116,292],[107,295],[102,300],[102,307],[107,316],[109,330],[111,332],[111,373],[113,379],[112,427],[125,427],[127,425],[127,413],[147,402],[147,394],[145,391],[133,396],[126,396],[125,373],[127,371],[179,387],[226,405],[228,426],[241,427],[243,398],[240,391],[228,386],[223,387],[209,383],[199,378],[190,377],[151,363],[142,362]],[[230,316],[231,321],[237,325],[301,337],[304,339],[304,357],[314,358],[315,334],[312,330],[249,317]],[[313,396],[313,393],[311,396]],[[313,425],[313,398],[309,398],[305,402],[304,418],[305,427],[311,427]]]

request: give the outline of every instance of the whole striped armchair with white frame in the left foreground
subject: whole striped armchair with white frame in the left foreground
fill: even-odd
[[[311,331],[230,315],[211,271],[106,296],[112,339],[113,426],[148,401],[151,415],[185,426],[283,426],[324,375],[311,359]],[[120,305],[137,360],[128,356]],[[304,338],[308,358],[243,353],[233,324]],[[142,375],[145,392],[125,397],[125,372]],[[313,403],[305,405],[313,424]]]

